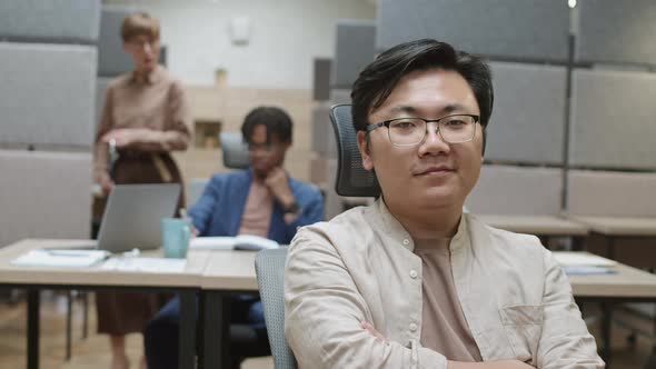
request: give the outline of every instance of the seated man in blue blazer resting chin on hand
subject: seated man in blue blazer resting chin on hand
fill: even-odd
[[[288,245],[296,229],[324,218],[324,199],[310,184],[289,178],[282,169],[291,146],[291,119],[278,108],[257,108],[246,117],[241,132],[247,140],[250,168],[216,174],[190,209],[198,236],[255,235]],[[248,356],[268,355],[268,339],[259,299],[236,298],[232,322],[250,325],[259,347],[235,347],[235,365]],[[177,368],[178,298],[148,323],[145,347],[148,368]],[[247,350],[247,351],[246,351]]]

